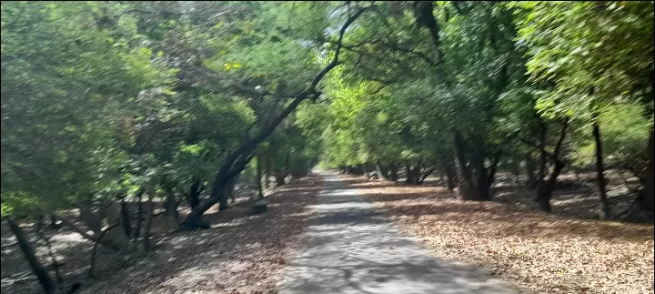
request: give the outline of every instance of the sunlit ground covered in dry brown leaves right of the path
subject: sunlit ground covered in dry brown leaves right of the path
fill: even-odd
[[[555,214],[525,203],[529,191],[493,202],[462,202],[436,186],[343,179],[438,258],[492,269],[540,293],[652,293],[653,226],[575,218],[577,202],[553,200]],[[561,197],[563,198],[563,197]],[[587,199],[589,200],[589,199]],[[529,201],[528,201],[529,202]]]

